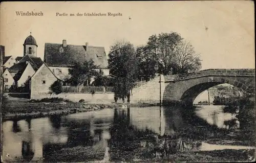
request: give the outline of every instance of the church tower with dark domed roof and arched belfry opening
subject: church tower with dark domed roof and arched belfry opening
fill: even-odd
[[[24,56],[36,57],[37,44],[35,38],[31,35],[28,36],[24,41]]]

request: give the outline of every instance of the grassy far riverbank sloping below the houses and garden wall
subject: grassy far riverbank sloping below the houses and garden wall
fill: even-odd
[[[67,115],[78,112],[97,111],[104,108],[126,108],[157,106],[158,104],[127,104],[127,103],[86,103],[67,100],[58,101],[30,101],[4,99],[2,103],[1,117],[3,120],[42,118],[49,115]]]

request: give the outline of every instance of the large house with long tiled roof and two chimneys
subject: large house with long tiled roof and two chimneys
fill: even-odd
[[[45,43],[44,62],[51,71],[61,80],[70,78],[68,69],[75,63],[89,61],[102,69],[104,75],[109,75],[108,59],[104,47],[67,44],[67,40],[61,43]],[[92,82],[93,80],[91,80]]]

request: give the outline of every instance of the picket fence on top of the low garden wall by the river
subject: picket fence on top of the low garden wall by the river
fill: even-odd
[[[62,86],[65,93],[114,92],[112,86]]]

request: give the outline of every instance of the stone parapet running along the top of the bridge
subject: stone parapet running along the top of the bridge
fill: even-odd
[[[165,82],[171,82],[207,76],[254,77],[255,69],[204,69],[198,72],[164,76],[164,80]]]

